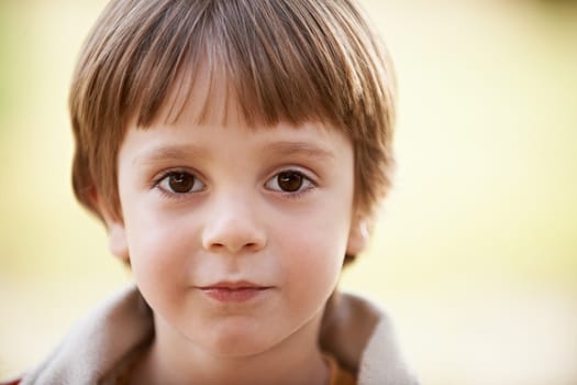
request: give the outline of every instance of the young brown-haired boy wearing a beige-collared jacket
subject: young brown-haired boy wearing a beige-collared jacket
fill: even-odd
[[[73,183],[136,287],[21,383],[414,384],[387,317],[335,292],[393,112],[352,0],[112,0],[73,79]]]

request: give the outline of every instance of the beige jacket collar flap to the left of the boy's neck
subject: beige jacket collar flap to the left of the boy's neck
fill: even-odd
[[[58,348],[22,381],[8,384],[103,383],[153,336],[152,314],[136,288],[129,286],[77,322]]]

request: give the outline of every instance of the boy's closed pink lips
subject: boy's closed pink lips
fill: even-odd
[[[271,286],[258,285],[246,280],[219,282],[208,286],[197,286],[197,289],[220,302],[244,302],[264,295],[271,288]]]

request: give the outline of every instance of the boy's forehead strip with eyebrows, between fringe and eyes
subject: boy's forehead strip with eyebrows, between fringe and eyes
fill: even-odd
[[[193,101],[187,100],[185,106],[191,103]],[[281,121],[266,127],[249,125],[236,112],[234,103],[217,106],[226,109],[223,110],[225,121],[210,113],[200,122],[197,109],[185,108],[174,121],[158,120],[147,129],[130,127],[120,148],[120,160],[138,164],[229,160],[230,166],[243,164],[245,160],[276,163],[290,158],[340,167],[343,163],[348,166],[354,163],[351,140],[331,124],[307,121],[295,125]]]

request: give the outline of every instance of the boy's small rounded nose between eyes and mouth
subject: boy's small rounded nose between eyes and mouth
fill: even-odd
[[[238,197],[215,200],[202,231],[202,245],[211,252],[256,252],[266,245],[266,231],[253,202]]]

